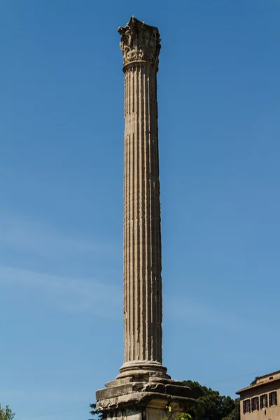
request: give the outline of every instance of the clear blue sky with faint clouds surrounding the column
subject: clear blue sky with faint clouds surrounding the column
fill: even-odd
[[[0,395],[88,419],[123,363],[118,26],[158,26],[164,364],[235,396],[278,370],[278,0],[2,0]]]

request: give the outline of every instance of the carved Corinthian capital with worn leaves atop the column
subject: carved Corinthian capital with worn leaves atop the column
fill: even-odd
[[[125,27],[118,28],[121,35],[120,49],[123,65],[132,62],[148,62],[158,69],[160,33],[158,28],[146,25],[132,16]]]

